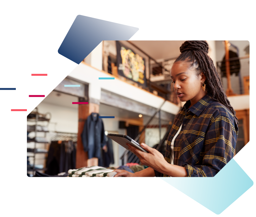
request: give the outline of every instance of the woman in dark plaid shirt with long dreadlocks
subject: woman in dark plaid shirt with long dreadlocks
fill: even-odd
[[[115,177],[214,177],[233,158],[238,119],[208,49],[206,41],[185,41],[172,66],[174,90],[186,103],[173,122],[165,158],[146,144],[141,146],[149,153],[127,144],[148,168],[135,173],[114,170]]]

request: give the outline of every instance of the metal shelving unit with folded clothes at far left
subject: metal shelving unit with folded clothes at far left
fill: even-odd
[[[33,158],[33,165],[30,165],[30,167],[28,167],[27,164],[27,172],[33,172],[33,175],[35,173],[35,171],[37,170],[41,170],[41,171],[45,171],[47,168],[41,168],[39,167],[39,165],[35,164],[36,161],[36,154],[40,153],[48,153],[48,150],[46,149],[46,145],[48,144],[48,141],[46,140],[46,134],[49,132],[48,130],[38,130],[39,127],[43,128],[43,127],[48,127],[49,125],[49,121],[51,119],[51,114],[50,113],[46,113],[46,114],[40,114],[38,113],[38,109],[35,108],[36,111],[35,112],[31,112],[28,116],[27,116],[27,122],[34,122],[34,129],[27,129],[27,132],[34,132],[34,138],[30,138],[28,139],[27,137],[27,144],[33,142],[34,143],[34,148],[27,148],[27,154],[28,153],[33,153],[33,155],[30,155],[28,157],[32,157]],[[49,114],[50,118],[47,117],[47,115]],[[40,126],[39,122],[47,122],[47,126]],[[28,126],[31,125],[27,125],[27,128],[29,128]],[[33,128],[33,127],[31,127]],[[44,137],[37,137],[38,136],[38,132],[43,132],[44,133]],[[44,149],[38,149],[37,148],[37,144],[44,144]],[[44,157],[44,159],[46,159],[46,157]]]

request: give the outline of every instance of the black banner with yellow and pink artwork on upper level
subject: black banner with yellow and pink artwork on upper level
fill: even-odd
[[[118,46],[119,45],[119,46]],[[119,51],[119,52],[118,52]],[[117,52],[121,55],[122,61],[118,64],[119,74],[129,78],[140,85],[145,85],[145,60],[139,55],[134,54],[131,49],[126,49],[117,42]],[[117,57],[117,60],[119,58]],[[120,73],[122,71],[122,73]]]

